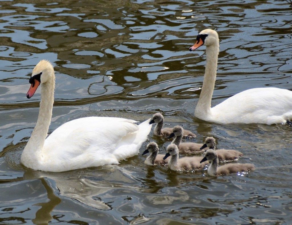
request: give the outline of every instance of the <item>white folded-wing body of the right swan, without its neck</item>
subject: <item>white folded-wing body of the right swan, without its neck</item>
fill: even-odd
[[[240,92],[211,109],[221,123],[285,123],[292,118],[292,91],[253,88]]]

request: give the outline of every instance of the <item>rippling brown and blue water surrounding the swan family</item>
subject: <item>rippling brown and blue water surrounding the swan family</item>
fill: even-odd
[[[291,89],[289,1],[1,1],[0,223],[247,224],[289,223],[292,130],[286,125],[219,125],[194,118],[204,48],[198,32],[220,35],[212,104],[265,86]],[[49,133],[83,116],[144,121],[155,112],[183,125],[196,142],[244,153],[258,168],[244,176],[208,177],[119,165],[44,173],[19,157],[36,123],[40,92],[25,94],[41,59],[56,71]],[[149,136],[165,153],[168,141]],[[145,149],[147,143],[142,145]]]

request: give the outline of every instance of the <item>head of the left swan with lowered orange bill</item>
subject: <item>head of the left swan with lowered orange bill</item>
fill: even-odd
[[[51,62],[48,60],[41,60],[34,69],[32,70],[32,76],[29,79],[31,84],[26,97],[31,98],[40,83],[46,83],[48,80],[54,79],[52,76],[54,74],[54,68]]]

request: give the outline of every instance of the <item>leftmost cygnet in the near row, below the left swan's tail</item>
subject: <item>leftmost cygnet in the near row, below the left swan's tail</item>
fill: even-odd
[[[150,142],[147,145],[146,150],[142,153],[142,156],[147,153],[150,153],[150,156],[146,158],[144,163],[146,165],[157,165],[157,164],[167,165],[169,158],[164,160],[163,159],[164,155],[158,154],[158,152],[159,152],[158,145],[155,142]]]

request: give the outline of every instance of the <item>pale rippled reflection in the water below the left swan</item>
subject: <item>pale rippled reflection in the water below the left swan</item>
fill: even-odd
[[[62,173],[29,170],[20,163],[21,152],[21,148],[18,148],[17,151],[9,151],[4,159],[9,167],[24,171],[23,180],[41,180],[47,190],[48,198],[52,202],[50,204],[41,203],[45,204],[47,210],[50,208],[48,205],[56,206],[60,203],[59,197],[56,196],[58,192],[61,196],[75,199],[84,205],[100,210],[110,210],[111,206],[104,203],[98,196],[114,189],[112,180],[118,181],[117,185],[131,182],[130,172],[117,165],[105,165]],[[19,178],[17,179],[19,180]],[[34,189],[34,187],[32,188]],[[51,212],[51,210],[49,211]]]

